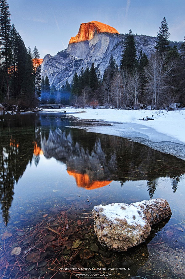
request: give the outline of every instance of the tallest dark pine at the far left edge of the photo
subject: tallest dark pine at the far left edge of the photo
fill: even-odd
[[[11,66],[11,23],[10,11],[7,0],[0,0],[0,42],[1,42],[1,92],[9,99],[9,73],[8,69]]]

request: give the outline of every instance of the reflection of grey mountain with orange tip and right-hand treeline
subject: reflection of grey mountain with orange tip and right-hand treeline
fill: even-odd
[[[75,131],[80,135],[81,131]],[[79,187],[94,189],[108,185],[113,180],[121,185],[128,180],[147,180],[150,198],[153,197],[159,177],[170,177],[175,192],[185,162],[163,154],[142,144],[124,138],[92,135],[93,145],[73,136],[74,131],[57,128],[41,139],[44,156],[64,162],[69,175],[73,175]],[[89,134],[88,134],[89,135]],[[88,143],[88,144],[87,144]],[[179,164],[180,162],[180,164]]]

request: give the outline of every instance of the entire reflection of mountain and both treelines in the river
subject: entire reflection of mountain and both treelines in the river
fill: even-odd
[[[14,186],[27,165],[39,164],[40,156],[66,165],[78,187],[88,190],[112,181],[146,180],[150,198],[158,178],[172,178],[173,192],[184,174],[185,162],[121,137],[66,128],[75,125],[58,114],[0,115],[0,203],[5,224],[9,220]],[[79,125],[79,122],[77,123]]]

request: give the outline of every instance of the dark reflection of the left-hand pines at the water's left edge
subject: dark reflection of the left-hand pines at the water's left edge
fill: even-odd
[[[8,124],[6,132],[1,127],[0,203],[5,225],[9,221],[9,209],[13,201],[14,184],[18,183],[34,155],[35,138],[37,135],[35,127],[32,125],[33,122],[35,123],[35,118],[27,116],[27,119],[25,119],[19,115],[16,117],[16,127],[23,128],[21,133],[12,131],[11,121],[6,123]],[[35,162],[38,160],[37,158],[38,156],[35,156]]]

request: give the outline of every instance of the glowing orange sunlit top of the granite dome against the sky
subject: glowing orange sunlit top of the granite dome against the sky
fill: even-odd
[[[80,24],[78,34],[76,37],[71,37],[69,44],[91,40],[94,37],[95,32],[98,34],[104,32],[119,34],[115,28],[107,24],[101,23],[99,21],[90,21]]]

